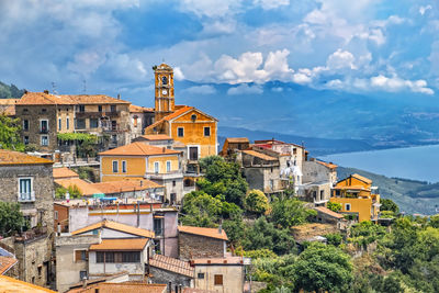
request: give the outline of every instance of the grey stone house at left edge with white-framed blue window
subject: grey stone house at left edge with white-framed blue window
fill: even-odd
[[[15,251],[20,280],[48,286],[53,280],[53,161],[0,149],[0,201],[19,203],[29,223],[0,241]]]

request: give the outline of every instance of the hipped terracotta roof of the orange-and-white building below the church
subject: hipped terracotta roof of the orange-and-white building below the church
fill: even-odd
[[[157,156],[176,154],[180,154],[180,151],[164,147],[150,146],[139,142],[99,153],[100,156]]]

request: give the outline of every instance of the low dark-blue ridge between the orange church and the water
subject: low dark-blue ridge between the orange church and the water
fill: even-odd
[[[318,137],[305,137],[299,135],[281,134],[275,132],[249,131],[246,128],[236,128],[219,126],[218,127],[218,143],[219,147],[223,146],[226,137],[248,137],[250,140],[255,139],[271,139],[275,138],[285,143],[293,143],[304,145],[311,153],[311,156],[322,156],[336,153],[347,151],[361,151],[378,149],[368,144],[365,140],[360,139],[330,139]]]

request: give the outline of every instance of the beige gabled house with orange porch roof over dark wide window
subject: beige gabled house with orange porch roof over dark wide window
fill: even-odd
[[[101,221],[56,238],[57,290],[65,292],[83,279],[128,273],[130,281],[147,279],[154,232]]]

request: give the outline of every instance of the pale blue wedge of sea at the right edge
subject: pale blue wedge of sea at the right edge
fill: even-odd
[[[319,159],[386,177],[439,182],[439,145],[334,154]]]

